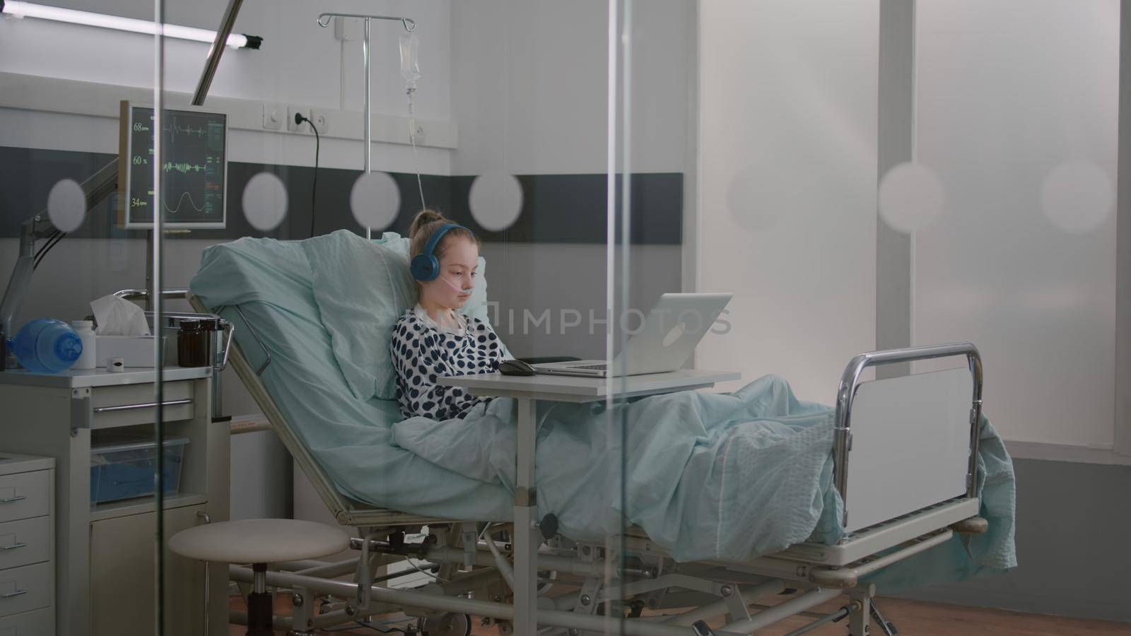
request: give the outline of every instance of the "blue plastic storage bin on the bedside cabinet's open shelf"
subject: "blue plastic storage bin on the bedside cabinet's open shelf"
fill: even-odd
[[[176,495],[181,488],[181,464],[189,438],[165,439],[165,495]],[[154,493],[154,464],[157,442],[132,438],[90,447],[90,504],[105,504]]]

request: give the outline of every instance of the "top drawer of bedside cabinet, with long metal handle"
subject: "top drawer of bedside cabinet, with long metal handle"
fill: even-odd
[[[192,380],[165,383],[164,420],[192,419]],[[94,428],[152,424],[156,419],[153,384],[95,387],[90,392]]]

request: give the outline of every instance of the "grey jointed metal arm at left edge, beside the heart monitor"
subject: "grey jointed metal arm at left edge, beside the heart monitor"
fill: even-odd
[[[118,158],[114,158],[97,172],[83,181],[83,194],[86,195],[86,209],[102,203],[106,197],[118,189]],[[11,323],[24,304],[24,296],[32,283],[32,273],[35,270],[35,241],[50,235],[55,231],[51,223],[48,210],[40,210],[38,214],[28,218],[19,226],[19,253],[16,257],[16,266],[11,269],[8,278],[8,287],[5,290],[3,300],[0,301],[0,371],[8,368],[8,338],[12,334]]]

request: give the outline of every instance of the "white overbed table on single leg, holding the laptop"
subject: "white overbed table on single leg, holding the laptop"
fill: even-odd
[[[537,426],[535,401],[603,402],[697,388],[737,380],[733,371],[680,369],[619,378],[575,376],[503,376],[481,373],[438,378],[437,384],[461,387],[472,395],[513,397],[518,409],[518,444],[515,462],[515,634],[537,634],[537,491],[534,485],[534,450]]]

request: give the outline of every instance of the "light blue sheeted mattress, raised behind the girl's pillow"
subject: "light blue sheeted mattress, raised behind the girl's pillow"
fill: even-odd
[[[190,291],[235,325],[235,340],[275,405],[346,496],[440,518],[499,519],[506,489],[397,447],[395,401],[355,398],[330,349],[300,242],[241,239],[206,250]]]

